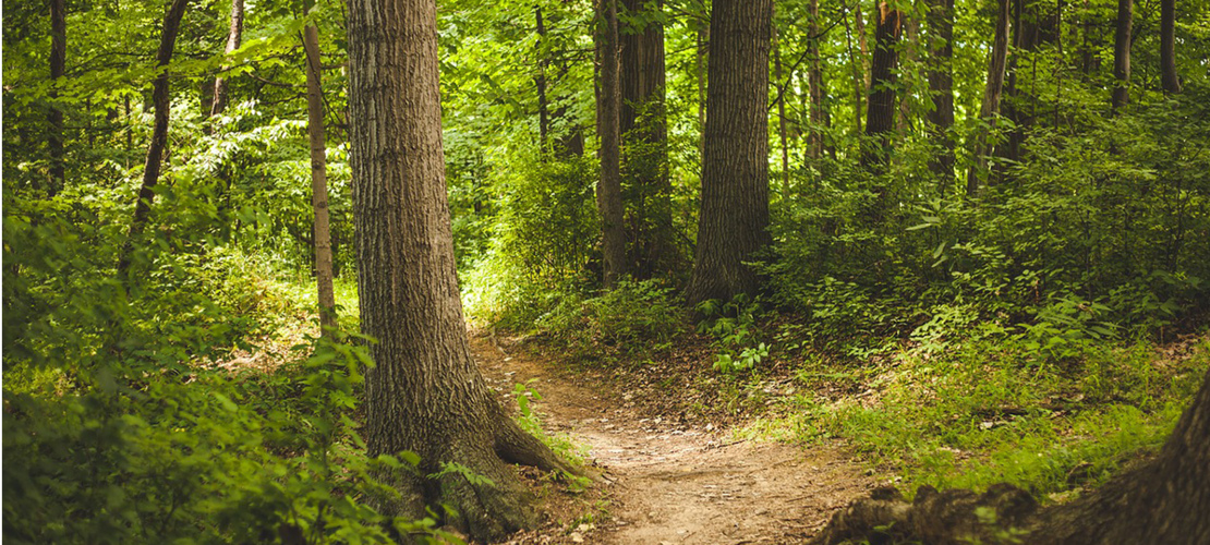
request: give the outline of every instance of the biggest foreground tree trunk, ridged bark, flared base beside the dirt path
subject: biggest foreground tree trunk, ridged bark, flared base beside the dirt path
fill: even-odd
[[[384,470],[402,493],[387,515],[444,523],[482,540],[535,520],[509,463],[563,467],[495,401],[471,356],[454,268],[442,156],[434,0],[353,0],[348,10],[350,166],[365,374],[368,454],[420,455]],[[457,465],[450,465],[457,464]],[[465,467],[486,477],[468,478]]]

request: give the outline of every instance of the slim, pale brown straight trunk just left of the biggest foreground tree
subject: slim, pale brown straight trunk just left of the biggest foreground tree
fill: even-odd
[[[310,2],[307,2],[310,4]],[[336,327],[336,297],[332,288],[332,228],[328,223],[328,157],[323,134],[323,88],[319,29],[302,30],[306,51],[307,137],[311,142],[311,207],[315,208],[315,277],[319,293],[321,334],[330,338]]]

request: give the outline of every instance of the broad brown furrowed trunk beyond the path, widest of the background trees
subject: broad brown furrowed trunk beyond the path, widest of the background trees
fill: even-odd
[[[715,0],[710,13],[702,212],[685,298],[754,293],[744,262],[771,242],[768,226],[768,48],[772,0]]]

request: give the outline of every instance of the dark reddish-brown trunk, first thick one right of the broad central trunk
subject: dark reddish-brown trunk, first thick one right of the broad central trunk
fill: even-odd
[[[895,67],[899,62],[899,34],[903,13],[889,2],[880,2],[875,30],[874,61],[870,64],[870,99],[865,110],[865,134],[870,142],[862,150],[862,166],[881,171],[891,160],[891,131],[895,124]]]

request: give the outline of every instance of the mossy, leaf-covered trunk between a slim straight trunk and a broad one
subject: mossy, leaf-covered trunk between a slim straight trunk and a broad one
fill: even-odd
[[[672,183],[668,179],[668,130],[664,109],[663,2],[624,0],[630,21],[647,22],[620,34],[622,103],[620,131],[634,241],[634,275],[647,279],[672,257]],[[629,269],[629,268],[628,268]]]

